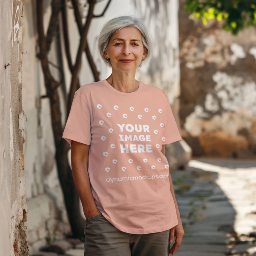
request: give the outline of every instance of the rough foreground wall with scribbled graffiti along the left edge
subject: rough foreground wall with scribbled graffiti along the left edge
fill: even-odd
[[[0,251],[28,255],[26,184],[24,169],[25,122],[22,110],[22,2],[0,2]]]

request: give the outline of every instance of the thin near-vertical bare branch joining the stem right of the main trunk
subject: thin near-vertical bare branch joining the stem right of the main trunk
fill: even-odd
[[[65,52],[67,55],[68,66],[70,72],[73,71],[73,64],[71,59],[70,53],[70,45],[69,45],[69,38],[68,38],[68,22],[67,22],[67,5],[66,0],[62,0],[62,8],[61,8],[61,17],[62,17],[62,29],[63,29],[63,37],[64,37],[64,44],[65,44]]]

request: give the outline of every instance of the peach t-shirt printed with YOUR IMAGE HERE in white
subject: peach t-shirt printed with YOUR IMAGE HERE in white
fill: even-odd
[[[147,234],[178,224],[161,149],[181,136],[159,88],[139,82],[136,91],[126,93],[106,80],[82,86],[74,95],[63,138],[90,145],[92,194],[117,229]]]

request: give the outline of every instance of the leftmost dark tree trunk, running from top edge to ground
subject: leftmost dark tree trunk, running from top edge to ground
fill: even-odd
[[[44,73],[47,97],[50,100],[51,125],[56,148],[55,158],[73,237],[81,239],[84,235],[84,220],[80,214],[79,196],[72,177],[72,170],[68,163],[68,150],[70,146],[68,142],[62,138],[63,127],[61,123],[60,99],[57,91],[57,87],[60,83],[54,80],[49,70],[47,42],[43,26],[43,2],[43,0],[37,1],[37,29],[40,47],[39,58]]]

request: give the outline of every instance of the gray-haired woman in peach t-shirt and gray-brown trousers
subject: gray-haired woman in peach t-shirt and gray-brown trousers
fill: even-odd
[[[63,133],[86,216],[85,255],[168,255],[180,246],[179,216],[165,144],[181,140],[165,94],[135,80],[152,51],[145,24],[121,16],[98,48],[110,77],[79,88]]]

